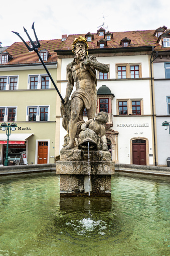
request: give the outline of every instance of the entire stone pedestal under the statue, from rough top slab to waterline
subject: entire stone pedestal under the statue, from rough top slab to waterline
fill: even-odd
[[[60,196],[111,197],[111,175],[114,162],[110,152],[82,149],[61,150],[61,160],[56,162],[60,175]]]

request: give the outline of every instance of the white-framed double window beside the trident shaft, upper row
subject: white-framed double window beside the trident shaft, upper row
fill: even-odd
[[[50,77],[46,74],[35,74],[29,75],[28,78],[28,89],[49,89],[51,86]]]

